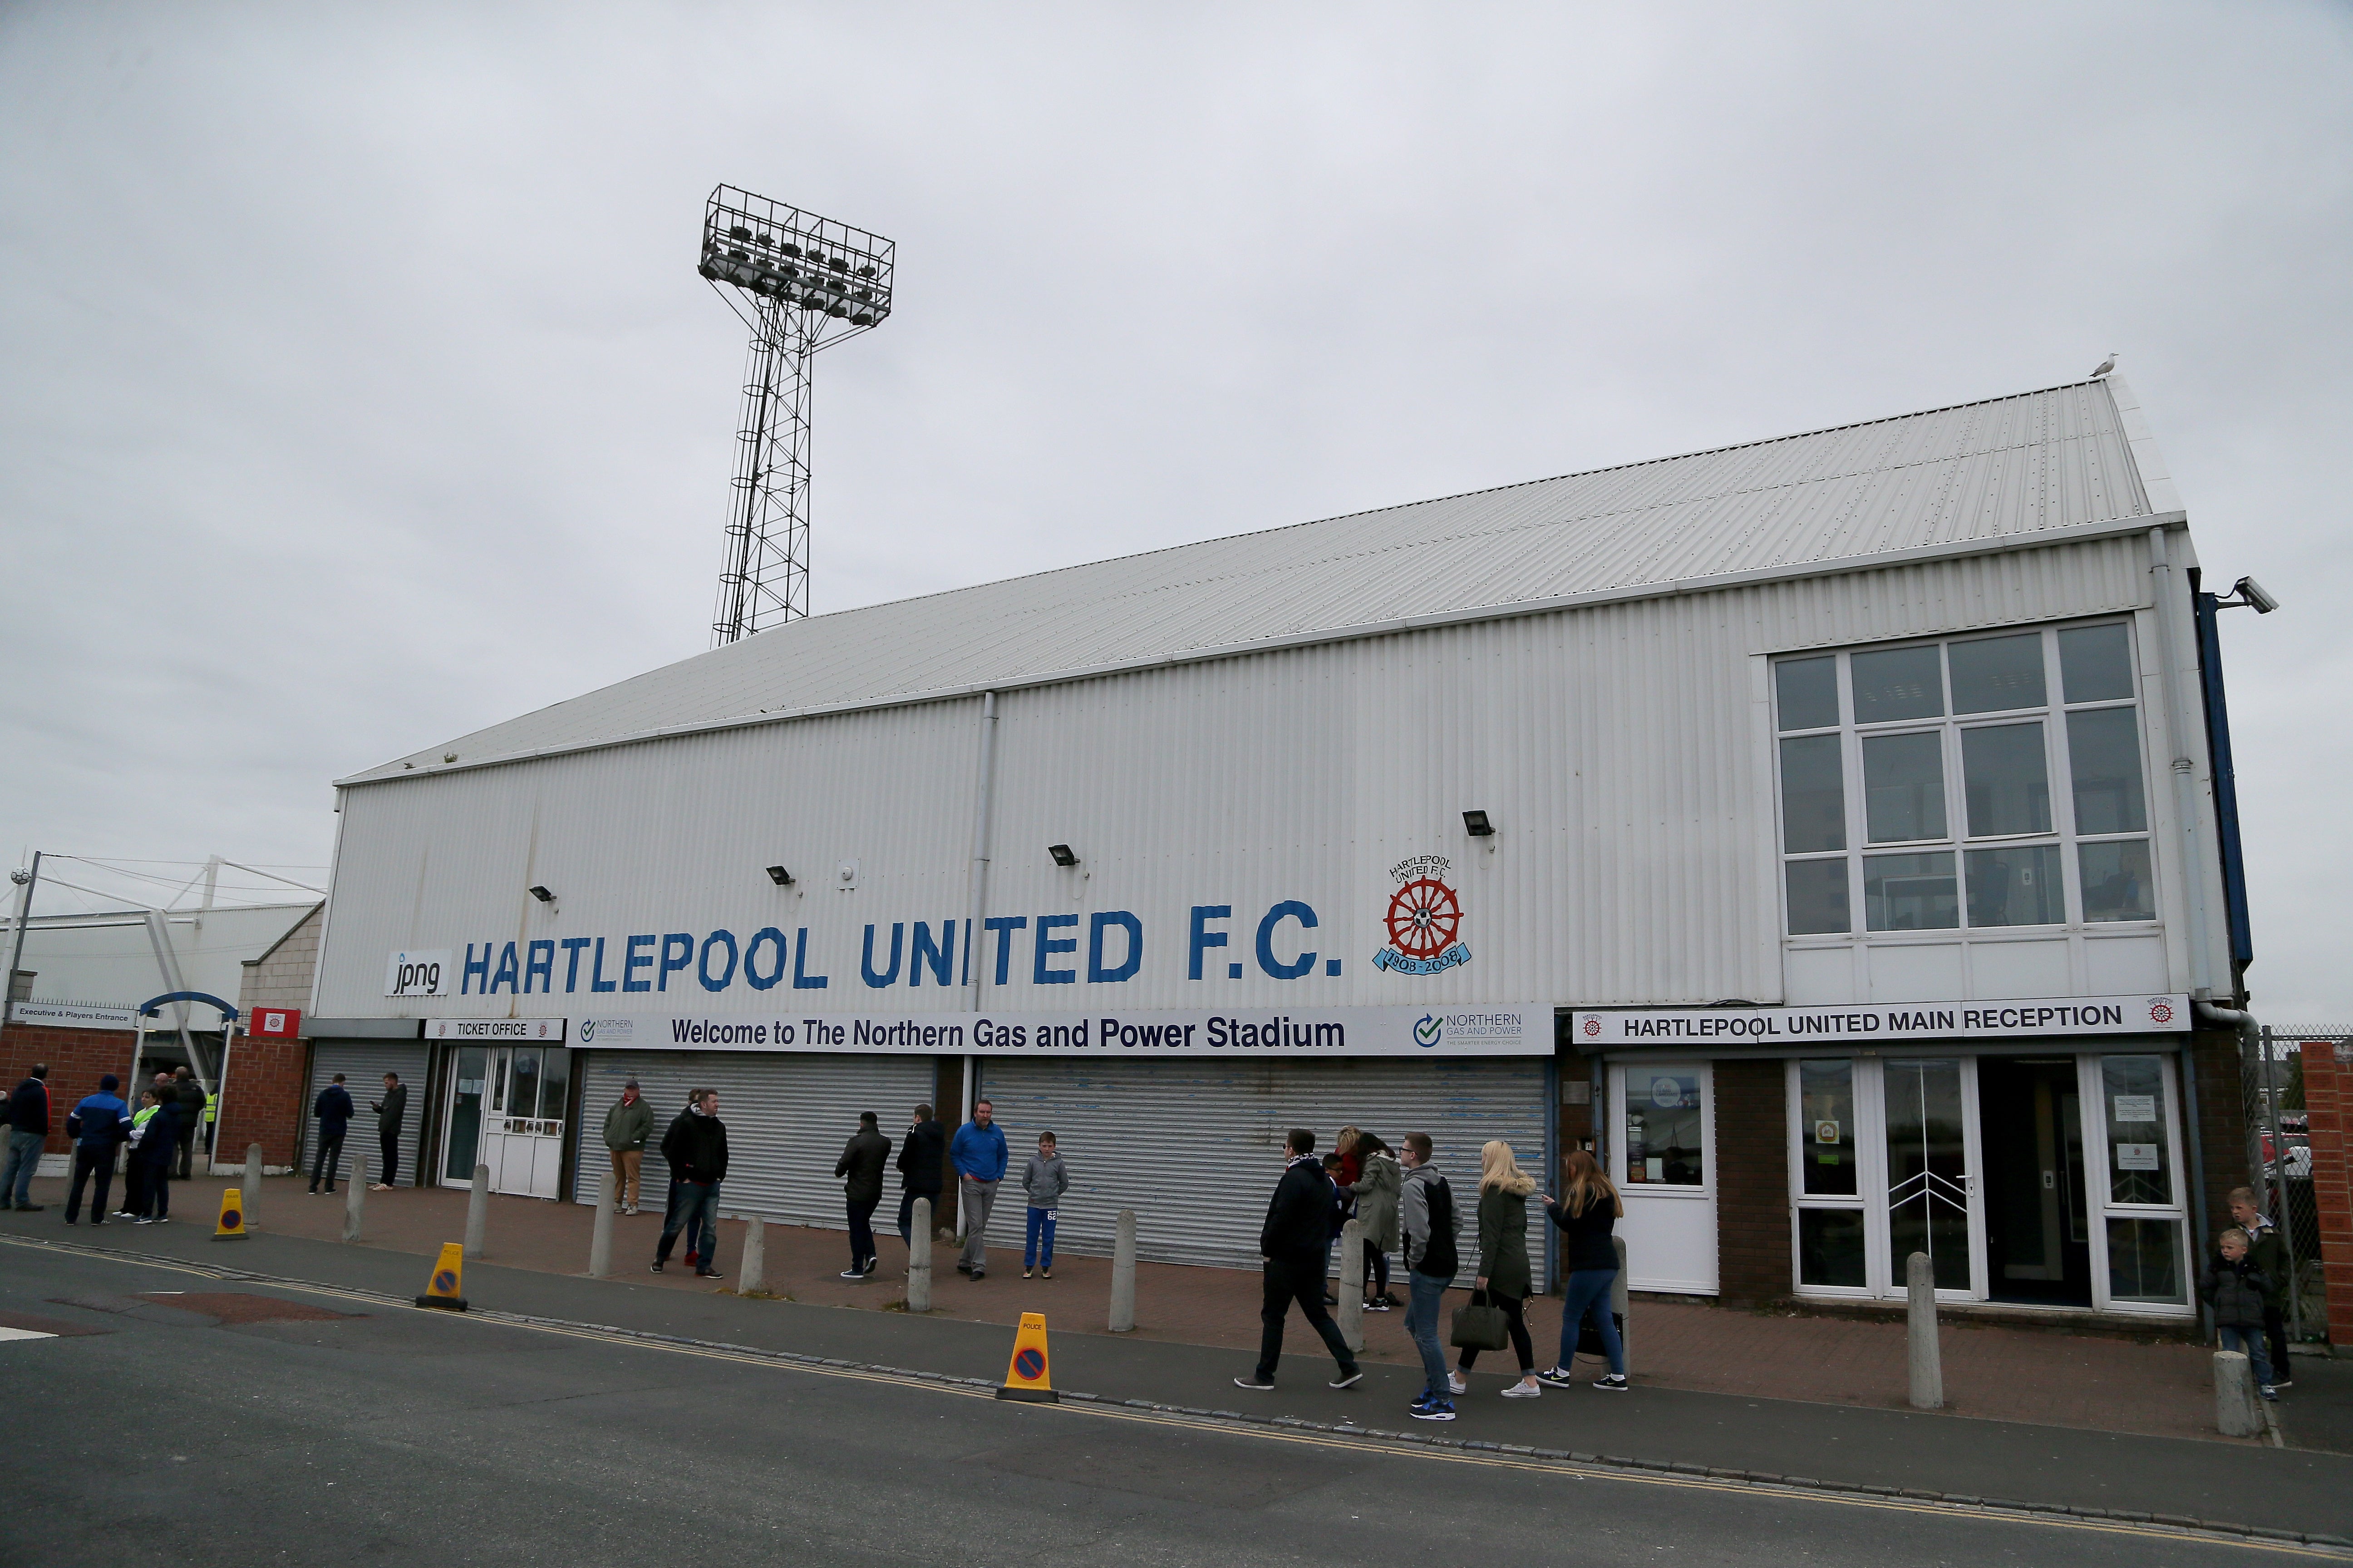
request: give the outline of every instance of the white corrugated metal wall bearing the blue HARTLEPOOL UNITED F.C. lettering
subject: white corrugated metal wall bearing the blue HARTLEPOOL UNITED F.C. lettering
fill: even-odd
[[[1007,987],[984,1006],[1120,1009],[1704,1004],[1781,997],[1769,712],[1758,654],[2017,625],[2148,599],[2146,541],[1445,625],[1012,691],[1000,698],[988,912],[1021,917]],[[762,632],[767,635],[767,632]],[[936,1011],[955,1006],[901,959],[861,980],[864,931],[962,922],[979,776],[979,701],[680,736],[344,792],[336,893],[320,959],[325,1016]],[[2198,745],[2198,738],[2191,738]],[[1482,809],[1497,837],[1464,832]],[[2169,797],[2151,799],[2155,823]],[[1080,865],[1056,867],[1047,844]],[[1374,969],[1388,875],[1452,858],[1471,961],[1409,978]],[[765,865],[798,877],[776,889]],[[856,879],[838,891],[835,865]],[[555,905],[525,889],[544,884]],[[1297,900],[1271,978],[1259,919]],[[1188,922],[1224,905],[1188,978]],[[1087,980],[1092,914],[1146,936],[1125,983]],[[1075,914],[1040,985],[1038,919]],[[736,940],[809,929],[812,976],[706,992],[576,990],[386,1001],[400,947],[607,938]],[[2172,933],[2169,933],[2172,938]],[[984,947],[993,980],[995,943]],[[1118,959],[1118,936],[1106,961]],[[1329,973],[1329,964],[1339,973]],[[1240,976],[1228,973],[1240,964]],[[960,964],[958,964],[960,969]],[[642,973],[642,980],[656,980]],[[922,985],[913,985],[913,980]]]

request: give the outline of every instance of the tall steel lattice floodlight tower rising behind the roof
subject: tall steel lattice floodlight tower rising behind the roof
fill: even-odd
[[[751,327],[711,646],[809,614],[809,371],[889,315],[882,235],[720,186],[696,268]],[[720,287],[729,284],[729,287]]]

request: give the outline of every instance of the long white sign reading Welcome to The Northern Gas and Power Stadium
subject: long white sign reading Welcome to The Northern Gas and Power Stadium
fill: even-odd
[[[1553,1009],[1334,1006],[1160,1013],[673,1013],[574,1018],[588,1051],[986,1056],[1551,1056]]]

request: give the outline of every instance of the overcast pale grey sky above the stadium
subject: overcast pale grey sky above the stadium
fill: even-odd
[[[329,778],[704,649],[720,181],[899,242],[819,611],[2118,350],[2287,604],[2259,1011],[2353,1020],[2344,5],[0,5],[7,851],[325,863]]]

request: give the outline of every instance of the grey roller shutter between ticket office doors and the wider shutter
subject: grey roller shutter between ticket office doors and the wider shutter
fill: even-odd
[[[579,1180],[581,1204],[595,1204],[612,1180],[605,1157],[605,1112],[621,1098],[621,1084],[638,1079],[638,1093],[654,1107],[654,1135],[645,1147],[645,1204],[661,1208],[671,1168],[661,1159],[661,1133],[687,1105],[687,1091],[720,1091],[727,1124],[727,1180],[720,1211],[758,1213],[765,1220],[849,1229],[842,1182],[833,1161],[859,1131],[859,1112],[871,1110],[882,1135],[899,1152],[908,1112],[932,1100],[934,1063],[927,1056],[847,1053],[746,1053],[746,1051],[584,1051]],[[882,1182],[882,1201],[896,1213],[896,1173]],[[878,1211],[880,1218],[880,1211]]]

